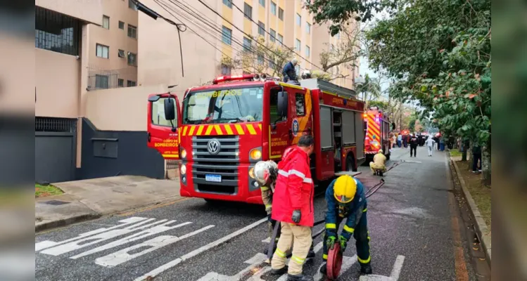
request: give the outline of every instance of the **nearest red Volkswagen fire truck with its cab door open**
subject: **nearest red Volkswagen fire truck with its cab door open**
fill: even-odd
[[[181,159],[181,195],[262,204],[253,166],[279,162],[300,136],[315,137],[318,181],[364,162],[364,103],[355,91],[317,79],[300,85],[252,74],[222,76],[186,90],[148,97],[148,146]]]

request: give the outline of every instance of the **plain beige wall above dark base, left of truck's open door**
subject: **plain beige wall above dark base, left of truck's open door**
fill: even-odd
[[[146,131],[148,95],[166,92],[160,84],[89,91],[85,117],[103,131]]]

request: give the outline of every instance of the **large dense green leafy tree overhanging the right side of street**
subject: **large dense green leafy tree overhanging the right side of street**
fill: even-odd
[[[483,148],[490,183],[490,0],[401,0],[367,31],[370,66],[397,79],[402,100],[418,100],[443,136]]]

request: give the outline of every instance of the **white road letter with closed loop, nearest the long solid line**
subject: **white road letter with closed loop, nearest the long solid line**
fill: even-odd
[[[181,240],[184,240],[185,238],[191,237],[193,235],[196,235],[198,233],[202,233],[205,230],[208,230],[210,228],[213,228],[214,226],[205,226],[204,228],[200,228],[196,231],[193,231],[191,233],[187,233],[185,235],[182,235],[182,237],[177,236],[170,236],[170,235],[162,235],[155,237],[151,240],[135,244],[132,247],[128,247],[126,249],[122,249],[120,251],[116,251],[113,254],[108,254],[107,256],[102,256],[99,259],[95,260],[96,264],[99,264],[99,266],[106,266],[108,268],[113,268],[114,266],[118,266],[121,263],[124,263],[126,261],[129,261],[131,259],[134,259],[138,256],[142,256],[144,254],[148,254],[151,251],[155,251],[157,249],[160,249],[162,247],[167,246],[168,244],[172,244]],[[135,254],[128,254],[129,251],[133,251],[134,249],[140,249],[141,247],[148,247],[147,249],[144,249],[143,251],[139,251]]]

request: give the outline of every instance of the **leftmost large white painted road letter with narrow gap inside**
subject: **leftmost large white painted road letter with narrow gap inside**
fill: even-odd
[[[141,221],[140,223],[136,223],[134,225],[128,226],[127,228],[114,229],[114,230],[110,230],[110,231],[105,232],[105,233],[99,233],[97,235],[93,235],[93,236],[89,236],[89,237],[83,237],[80,240],[72,241],[72,242],[69,242],[69,243],[66,243],[66,244],[61,244],[61,245],[59,245],[57,247],[45,249],[44,251],[41,251],[41,253],[42,254],[51,254],[53,256],[58,256],[58,255],[61,255],[61,254],[64,254],[64,253],[68,253],[70,251],[75,251],[77,249],[81,249],[81,248],[90,246],[92,244],[97,244],[97,243],[103,242],[105,240],[113,239],[113,238],[118,237],[120,235],[125,235],[125,234],[128,234],[128,233],[132,233],[132,232],[134,232],[136,230],[140,230],[140,229],[144,229],[144,228],[150,228],[151,226],[155,226],[155,225],[157,225],[159,223],[164,223],[167,220],[164,219],[164,220],[160,220],[160,221],[155,221],[153,223],[148,223],[150,221],[155,221],[155,218],[148,218],[146,221]],[[148,223],[148,224],[144,225],[144,223]],[[144,225],[144,226],[141,226],[141,225]],[[87,241],[89,241],[89,242],[87,242]],[[80,244],[82,242],[86,242],[86,243]]]

